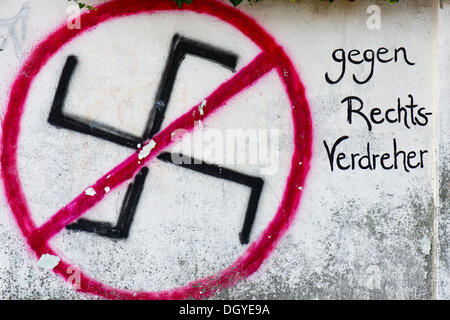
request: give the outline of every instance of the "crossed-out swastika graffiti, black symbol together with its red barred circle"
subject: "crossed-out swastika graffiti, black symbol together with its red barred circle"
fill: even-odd
[[[124,7],[129,9],[124,10]],[[147,172],[147,169],[145,168],[151,165],[151,161],[154,159],[166,162],[171,161],[170,154],[165,153],[165,150],[176,142],[172,139],[172,133],[178,129],[183,129],[185,132],[192,132],[195,128],[198,128],[199,122],[207,120],[214,114],[223,110],[223,108],[226,108],[226,103],[230,99],[252,87],[259,79],[267,75],[270,71],[274,71],[278,76],[277,79],[283,84],[282,88],[285,90],[289,101],[289,104],[286,107],[291,110],[293,123],[293,152],[289,158],[291,166],[286,181],[283,181],[284,189],[282,189],[282,197],[279,199],[279,205],[273,208],[273,214],[270,218],[271,221],[268,223],[267,227],[255,237],[255,240],[251,245],[243,249],[243,253],[237,257],[235,262],[216,275],[193,281],[180,288],[166,289],[159,292],[142,292],[111,287],[99,280],[91,278],[84,273],[83,270],[79,270],[80,272],[77,273],[76,282],[77,286],[79,286],[78,290],[83,293],[95,294],[108,299],[200,299],[211,297],[221,288],[230,287],[258,270],[262,262],[270,255],[281,236],[290,226],[300,203],[312,154],[312,123],[308,102],[305,97],[305,90],[294,64],[287,56],[284,49],[277,44],[275,39],[252,18],[220,1],[197,0],[183,10],[202,15],[209,15],[232,26],[236,31],[243,33],[259,47],[259,53],[250,63],[240,68],[229,80],[220,84],[212,91],[212,93],[202,99],[202,101],[207,101],[207,108],[202,109],[202,103],[200,102],[172,121],[165,128],[159,128],[157,125],[155,129],[152,129],[155,124],[160,123],[159,119],[164,115],[163,112],[160,112],[159,110],[165,110],[168,106],[171,90],[168,90],[167,86],[162,86],[162,89],[160,88],[158,92],[161,95],[165,94],[164,97],[167,97],[167,100],[156,99],[156,102],[159,101],[159,103],[155,103],[157,109],[155,109],[153,113],[150,113],[150,123],[152,128],[147,127],[146,132],[148,134],[138,140],[133,140],[134,138],[129,135],[124,139],[122,133],[118,133],[117,130],[103,130],[105,128],[112,128],[101,126],[100,124],[97,126],[96,123],[93,124],[94,129],[91,130],[84,126],[86,123],[83,122],[83,119],[65,117],[62,112],[62,105],[66,95],[65,92],[67,92],[70,82],[71,72],[63,72],[55,94],[56,99],[52,106],[49,120],[62,127],[70,125],[71,127],[68,129],[71,130],[84,130],[83,133],[96,135],[98,138],[102,139],[105,139],[104,134],[107,132],[106,136],[108,139],[116,139],[116,141],[109,141],[114,143],[118,143],[117,141],[119,141],[121,145],[127,146],[130,149],[132,148],[133,153],[123,162],[119,163],[116,167],[97,179],[94,184],[84,189],[67,205],[57,210],[57,212],[43,224],[38,226],[32,219],[30,209],[27,206],[26,195],[22,188],[20,180],[21,175],[18,172],[17,152],[20,122],[33,79],[47,64],[49,59],[59,52],[65,44],[82,35],[87,30],[92,30],[105,21],[141,13],[145,13],[146,17],[151,18],[151,13],[158,11],[175,12],[175,10],[176,12],[179,12],[178,7],[172,0],[116,0],[106,2],[98,7],[98,14],[84,14],[82,16],[83,25],[81,29],[71,30],[64,25],[49,35],[35,47],[28,60],[26,60],[24,66],[19,71],[11,88],[8,108],[3,122],[1,174],[5,187],[6,199],[28,244],[38,257],[41,257],[44,254],[64,257],[64,255],[58,254],[52,248],[50,240],[67,226],[77,223],[76,221],[80,221],[80,218],[82,218],[85,213],[102,201],[102,199],[108,197],[110,191],[132,179],[134,179],[134,182],[129,188],[135,188],[136,192],[134,196],[133,192],[129,192],[127,201],[123,204],[123,210],[124,212],[127,210],[130,212],[133,211],[132,209],[135,207],[134,203],[136,202],[136,199],[139,198],[139,189],[142,190],[143,187],[141,179],[142,181],[145,179]],[[178,43],[183,43],[183,41],[178,40]],[[174,50],[173,52],[177,52],[177,50]],[[201,54],[203,54],[203,56],[201,56],[199,52],[200,57],[205,57],[203,51],[201,51]],[[176,61],[181,63],[183,55],[179,55],[180,56]],[[217,60],[215,56],[206,55],[206,57],[208,59]],[[230,57],[232,56],[227,55],[227,60],[221,60],[219,63],[230,65],[229,62],[232,61],[229,60]],[[75,65],[76,58],[70,58],[64,68],[67,68],[66,70],[72,69],[73,71]],[[170,75],[172,73],[168,74]],[[173,73],[173,76],[175,76],[175,73]],[[170,81],[168,83],[170,84]],[[58,92],[60,93],[59,95]],[[163,102],[162,104],[161,101]],[[53,107],[55,107],[55,109],[53,109]],[[199,108],[203,110],[203,112],[198,112],[200,110]],[[56,116],[52,116],[53,111]],[[70,122],[71,120],[75,121]],[[130,139],[127,140],[128,138]],[[144,140],[145,142],[142,142]],[[137,144],[131,144],[131,142],[137,144],[143,143],[143,145],[138,147]],[[194,168],[190,167],[191,165],[181,164],[181,166],[189,170],[194,170]],[[8,168],[8,170],[5,170],[5,168]],[[252,188],[250,198],[253,196],[253,200],[250,199],[248,207],[252,207],[257,203],[257,199],[255,198],[262,188],[262,184],[258,180],[259,178],[255,179],[254,177],[245,176],[243,179],[242,175],[239,173],[223,170],[224,168],[209,164],[205,164],[205,166],[195,166],[195,169],[200,169],[200,172],[203,171],[201,173],[220,178],[225,174],[228,180],[244,185],[247,184]],[[151,167],[148,170],[150,171]],[[225,173],[223,173],[223,171],[225,171]],[[256,208],[254,212],[256,212]],[[129,226],[129,220],[127,221],[126,218],[132,217],[132,214],[124,213],[123,217],[124,218],[122,220],[119,219],[119,222],[117,223],[117,228],[115,229],[117,230],[117,233],[127,231],[126,227]],[[245,233],[247,232],[246,228],[251,227],[252,217],[247,215],[245,219],[246,221],[244,222],[243,232],[241,233],[241,240],[242,238],[245,238]],[[61,258],[59,264],[52,270],[67,281],[73,282],[74,278],[71,277],[72,274],[68,273],[69,267],[72,265],[74,265],[73,262],[68,262],[65,258]]]

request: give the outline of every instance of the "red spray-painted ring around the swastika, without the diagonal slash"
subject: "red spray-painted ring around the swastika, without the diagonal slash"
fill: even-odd
[[[289,227],[300,201],[302,188],[298,186],[305,184],[312,154],[311,115],[300,77],[291,60],[272,36],[249,16],[215,0],[195,0],[191,5],[184,4],[182,9],[177,8],[173,0],[113,0],[99,6],[97,11],[83,14],[81,29],[70,30],[63,25],[37,45],[11,87],[8,108],[3,121],[1,173],[7,201],[31,249],[38,258],[46,253],[57,255],[47,241],[36,244],[31,239],[37,226],[31,218],[17,169],[20,120],[34,77],[65,44],[102,22],[124,16],[172,10],[192,11],[216,17],[241,31],[263,52],[277,49],[276,69],[292,105],[294,124],[294,153],[283,199],[273,220],[258,240],[253,242],[231,266],[216,275],[196,280],[176,289],[161,292],[133,292],[106,286],[81,273],[81,287],[77,290],[83,293],[95,294],[108,299],[199,299],[210,297],[217,290],[234,285],[259,268]],[[53,270],[67,280],[70,277],[70,274],[67,274],[69,266],[69,263],[61,260]]]

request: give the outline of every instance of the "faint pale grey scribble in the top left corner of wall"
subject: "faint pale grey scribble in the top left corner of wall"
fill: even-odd
[[[22,22],[22,41],[26,39],[26,30],[27,30],[27,19],[30,13],[30,6],[28,3],[24,3],[22,9],[10,19],[0,19],[0,27],[4,27],[8,29],[9,36],[11,37],[12,42],[14,43],[14,48],[16,50],[16,55],[18,58],[21,58],[23,55],[22,47],[19,42],[19,38],[16,34],[16,25],[19,21]],[[3,51],[6,48],[8,38],[0,37],[0,51]]]

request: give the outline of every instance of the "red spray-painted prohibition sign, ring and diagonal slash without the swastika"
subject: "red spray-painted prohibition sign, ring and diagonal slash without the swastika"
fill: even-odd
[[[152,141],[147,141],[138,152],[134,152],[89,186],[97,190],[94,196],[86,195],[83,191],[69,204],[57,211],[47,222],[38,227],[31,218],[17,166],[20,121],[33,79],[47,61],[65,44],[102,22],[125,16],[151,15],[154,12],[173,10],[191,11],[220,19],[252,40],[261,49],[261,53],[231,79],[222,83],[208,97],[205,97],[205,100],[208,101],[208,108],[202,114],[193,112],[198,109],[199,103],[154,135]],[[37,45],[25,61],[11,87],[3,122],[2,180],[8,204],[29,246],[38,258],[43,254],[58,256],[57,252],[49,246],[49,240],[106,197],[107,192],[101,192],[101,190],[106,187],[112,190],[132,179],[146,163],[173,144],[172,133],[175,130],[192,131],[199,121],[204,121],[214,112],[220,111],[227,101],[251,86],[269,71],[275,69],[291,103],[294,152],[281,203],[273,220],[259,238],[226,269],[216,275],[196,280],[184,287],[161,292],[134,292],[109,287],[81,272],[80,287],[77,290],[107,299],[201,299],[211,297],[217,290],[230,287],[248,277],[268,257],[295,217],[302,193],[302,188],[298,188],[298,186],[304,186],[310,167],[312,122],[305,90],[293,63],[283,48],[254,19],[215,0],[196,0],[191,5],[183,5],[181,9],[177,7],[173,0],[113,0],[100,5],[96,12],[83,14],[82,19],[83,26],[81,29],[71,30],[64,25]],[[154,147],[150,149],[153,144]],[[145,152],[146,156],[142,158],[141,152],[143,150],[150,151]],[[61,260],[53,271],[68,280],[70,275],[66,273],[66,270],[70,266],[69,262]]]

